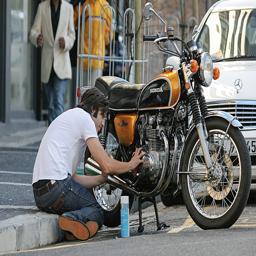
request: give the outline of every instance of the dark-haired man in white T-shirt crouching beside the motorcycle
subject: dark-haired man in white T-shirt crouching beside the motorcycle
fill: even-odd
[[[142,148],[136,148],[128,163],[110,158],[97,133],[104,127],[108,100],[97,88],[87,90],[81,102],[58,116],[40,144],[32,186],[37,207],[61,215],[58,224],[67,239],[87,240],[103,225],[103,208],[87,189],[106,182],[108,174],[134,170],[143,162]],[[100,165],[101,175],[77,175],[86,147]]]

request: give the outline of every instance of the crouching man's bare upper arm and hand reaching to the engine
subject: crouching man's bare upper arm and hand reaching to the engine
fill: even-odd
[[[98,138],[89,138],[86,143],[92,157],[100,165],[102,172],[106,174],[122,174],[134,170],[140,163],[143,163],[140,158],[147,154],[146,152],[140,153],[142,148],[136,148],[130,162],[119,162],[107,155]]]

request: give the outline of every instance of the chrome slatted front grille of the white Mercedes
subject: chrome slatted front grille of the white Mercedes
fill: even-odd
[[[228,101],[207,103],[209,111],[220,110],[237,116],[245,130],[256,129],[256,101]]]

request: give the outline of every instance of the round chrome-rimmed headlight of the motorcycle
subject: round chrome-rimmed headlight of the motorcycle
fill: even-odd
[[[204,86],[210,86],[213,77],[213,65],[212,58],[208,52],[201,54],[200,75]]]

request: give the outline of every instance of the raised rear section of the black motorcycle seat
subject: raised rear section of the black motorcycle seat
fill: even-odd
[[[117,76],[100,76],[95,81],[95,87],[98,88],[101,92],[108,96],[108,90],[115,84],[118,83],[129,83],[128,81],[117,77]]]

